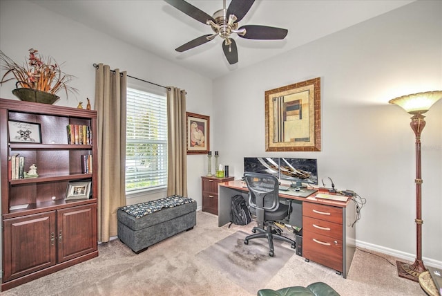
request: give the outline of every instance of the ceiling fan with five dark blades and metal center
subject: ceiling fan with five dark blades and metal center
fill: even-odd
[[[238,28],[238,22],[247,14],[255,0],[232,0],[229,8],[226,9],[226,0],[223,0],[224,8],[216,11],[213,17],[206,12],[196,8],[184,0],[164,0],[171,6],[184,12],[189,17],[193,17],[202,24],[211,26],[213,34],[202,35],[193,39],[182,46],[175,48],[178,52],[189,50],[196,46],[200,46],[213,40],[216,36],[220,36],[222,42],[222,50],[229,64],[238,62],[238,49],[236,42],[231,38],[232,33],[236,33],[239,37],[246,39],[275,40],[284,39],[288,30],[269,26],[246,25]]]

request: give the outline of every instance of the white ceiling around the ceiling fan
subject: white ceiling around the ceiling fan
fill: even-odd
[[[229,6],[231,0],[227,0]],[[236,34],[239,62],[229,65],[222,39],[178,53],[175,48],[211,34],[212,30],[162,0],[34,0],[39,6],[142,48],[206,77],[226,75],[361,21],[404,6],[414,0],[257,0],[240,26],[287,28],[284,40],[242,39]],[[188,0],[208,15],[222,9],[222,0]],[[97,40],[99,42],[99,40]]]

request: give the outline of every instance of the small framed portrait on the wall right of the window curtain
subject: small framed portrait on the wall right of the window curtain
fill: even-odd
[[[209,152],[209,116],[186,112],[187,154]]]

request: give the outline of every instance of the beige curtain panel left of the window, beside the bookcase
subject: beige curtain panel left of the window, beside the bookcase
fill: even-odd
[[[126,83],[126,72],[97,66],[98,240],[102,242],[117,236],[117,209],[126,205]]]

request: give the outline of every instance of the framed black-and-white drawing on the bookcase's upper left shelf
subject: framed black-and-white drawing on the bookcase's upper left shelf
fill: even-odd
[[[8,120],[9,142],[41,144],[39,123]]]

